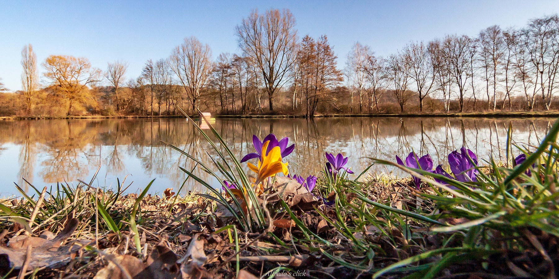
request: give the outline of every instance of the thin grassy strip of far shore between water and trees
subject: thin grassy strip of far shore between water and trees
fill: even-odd
[[[198,116],[190,116],[196,118]],[[285,114],[235,114],[216,115],[217,118],[306,118],[306,116],[292,116]],[[384,113],[384,114],[316,114],[320,117],[559,117],[558,111],[553,112],[465,112],[465,113]],[[105,118],[184,118],[184,116],[3,116],[0,120],[17,119],[105,119]]]

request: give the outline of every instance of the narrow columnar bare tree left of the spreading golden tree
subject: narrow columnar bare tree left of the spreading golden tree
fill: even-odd
[[[21,73],[21,89],[25,97],[27,113],[31,114],[33,111],[32,101],[35,97],[35,91],[39,86],[37,55],[35,55],[35,51],[33,51],[33,46],[31,44],[24,46],[21,50],[21,66],[23,66],[23,72]]]

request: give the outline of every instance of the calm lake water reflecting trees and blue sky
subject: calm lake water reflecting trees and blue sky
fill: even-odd
[[[462,146],[477,156],[504,158],[506,131],[513,126],[513,143],[534,146],[542,140],[553,118],[288,118],[216,119],[215,128],[237,158],[254,152],[252,135],[289,137],[295,151],[286,158],[291,174],[316,175],[323,169],[324,152],[342,152],[359,173],[367,157],[395,160],[411,150],[430,153],[435,166]],[[99,169],[93,186],[115,187],[117,177],[129,192],[152,179],[152,193],[177,190],[186,175],[178,169],[195,164],[163,142],[211,164],[216,157],[207,141],[183,118],[42,119],[0,121],[0,196],[16,194],[14,183],[29,191],[25,178],[37,188],[57,182],[88,181]],[[209,130],[206,130],[209,133]],[[212,137],[213,138],[213,137]],[[163,141],[163,142],[162,142]],[[534,150],[531,147],[530,150]],[[517,154],[518,151],[515,151]],[[401,175],[392,167],[373,166],[371,174]],[[201,170],[201,177],[210,179]],[[210,179],[211,181],[211,179]],[[216,185],[216,181],[212,184]],[[193,179],[183,189],[201,189]]]

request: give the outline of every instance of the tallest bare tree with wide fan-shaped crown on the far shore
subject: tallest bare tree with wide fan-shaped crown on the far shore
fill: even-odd
[[[287,82],[288,73],[295,62],[295,17],[289,9],[281,12],[269,9],[262,15],[254,9],[235,29],[240,49],[253,59],[262,74],[269,109],[273,110],[274,97]]]

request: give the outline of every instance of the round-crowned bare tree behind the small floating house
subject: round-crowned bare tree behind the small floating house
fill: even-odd
[[[184,39],[169,58],[171,69],[181,81],[192,104],[192,112],[200,99],[202,89],[209,80],[212,61],[209,45],[202,45],[196,37]]]

